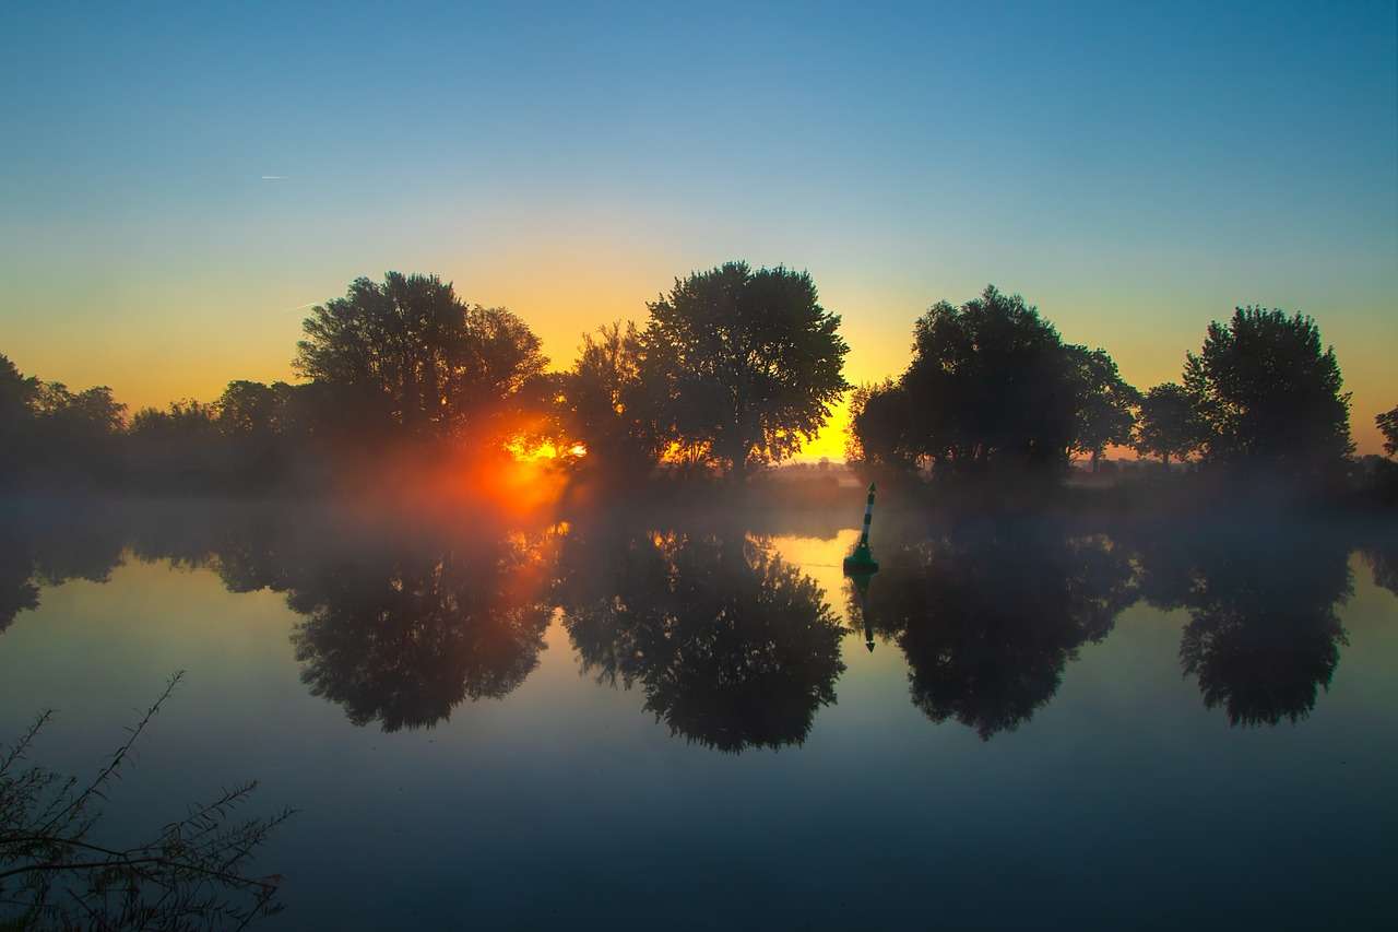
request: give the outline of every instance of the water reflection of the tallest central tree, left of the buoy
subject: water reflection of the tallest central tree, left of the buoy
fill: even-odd
[[[733,753],[800,744],[835,701],[843,628],[765,539],[575,529],[556,592],[584,670],[639,686],[672,735]]]

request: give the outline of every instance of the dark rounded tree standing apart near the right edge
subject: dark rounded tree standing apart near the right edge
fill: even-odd
[[[1321,350],[1311,318],[1254,306],[1211,323],[1184,365],[1184,388],[1208,427],[1205,456],[1297,479],[1338,466],[1355,449],[1342,385],[1335,350]]]

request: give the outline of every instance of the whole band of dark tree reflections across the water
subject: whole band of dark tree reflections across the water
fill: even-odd
[[[844,666],[828,596],[751,525],[410,523],[277,504],[13,509],[0,522],[0,633],[45,586],[106,581],[134,554],[212,570],[232,592],[287,593],[303,616],[292,645],[310,691],[384,730],[517,689],[555,606],[584,670],[637,687],[647,711],[703,746],[801,743],[835,701]],[[891,533],[867,603],[851,588],[851,624],[899,645],[928,718],[984,739],[1047,704],[1079,648],[1135,598],[1188,613],[1179,659],[1209,708],[1234,725],[1299,721],[1346,644],[1352,550],[1398,591],[1391,532],[1343,522],[1001,516],[902,543]]]

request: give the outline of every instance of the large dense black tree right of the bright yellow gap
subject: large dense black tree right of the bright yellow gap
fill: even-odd
[[[1082,385],[1036,308],[987,285],[959,308],[934,304],[913,333],[900,385],[918,453],[955,469],[1067,462]]]

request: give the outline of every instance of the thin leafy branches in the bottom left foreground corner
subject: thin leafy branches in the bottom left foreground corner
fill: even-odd
[[[126,743],[87,784],[42,767],[24,768],[52,712],[0,754],[0,917],[15,928],[243,928],[280,910],[280,877],[245,873],[253,852],[292,813],[232,821],[256,784],[192,806],[148,840],[95,841],[98,803],[179,682],[130,729]],[[6,914],[8,914],[6,917]]]

